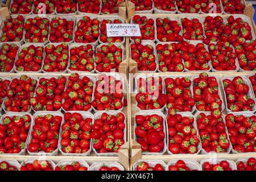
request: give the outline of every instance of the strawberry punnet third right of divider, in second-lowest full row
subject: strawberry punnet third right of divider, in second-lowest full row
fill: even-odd
[[[220,87],[218,80],[207,73],[200,73],[193,78],[193,96],[196,102],[196,109],[199,111],[222,110],[222,98],[219,94]]]

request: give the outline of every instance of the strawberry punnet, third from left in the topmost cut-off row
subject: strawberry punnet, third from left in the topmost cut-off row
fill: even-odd
[[[69,14],[76,13],[77,11],[77,0],[61,0],[55,2],[57,13]]]

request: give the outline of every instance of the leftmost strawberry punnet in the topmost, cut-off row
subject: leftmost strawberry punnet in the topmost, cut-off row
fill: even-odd
[[[32,0],[13,0],[10,12],[11,14],[30,14],[33,2]]]

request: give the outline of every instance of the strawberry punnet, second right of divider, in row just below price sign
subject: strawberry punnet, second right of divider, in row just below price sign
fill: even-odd
[[[181,57],[181,52],[187,42],[157,44],[156,52],[158,54],[159,71],[160,72],[183,72],[184,63]]]

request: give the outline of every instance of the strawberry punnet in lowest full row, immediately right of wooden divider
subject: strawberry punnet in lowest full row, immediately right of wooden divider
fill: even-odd
[[[135,135],[142,152],[161,153],[166,149],[166,134],[163,114],[135,115]]]

